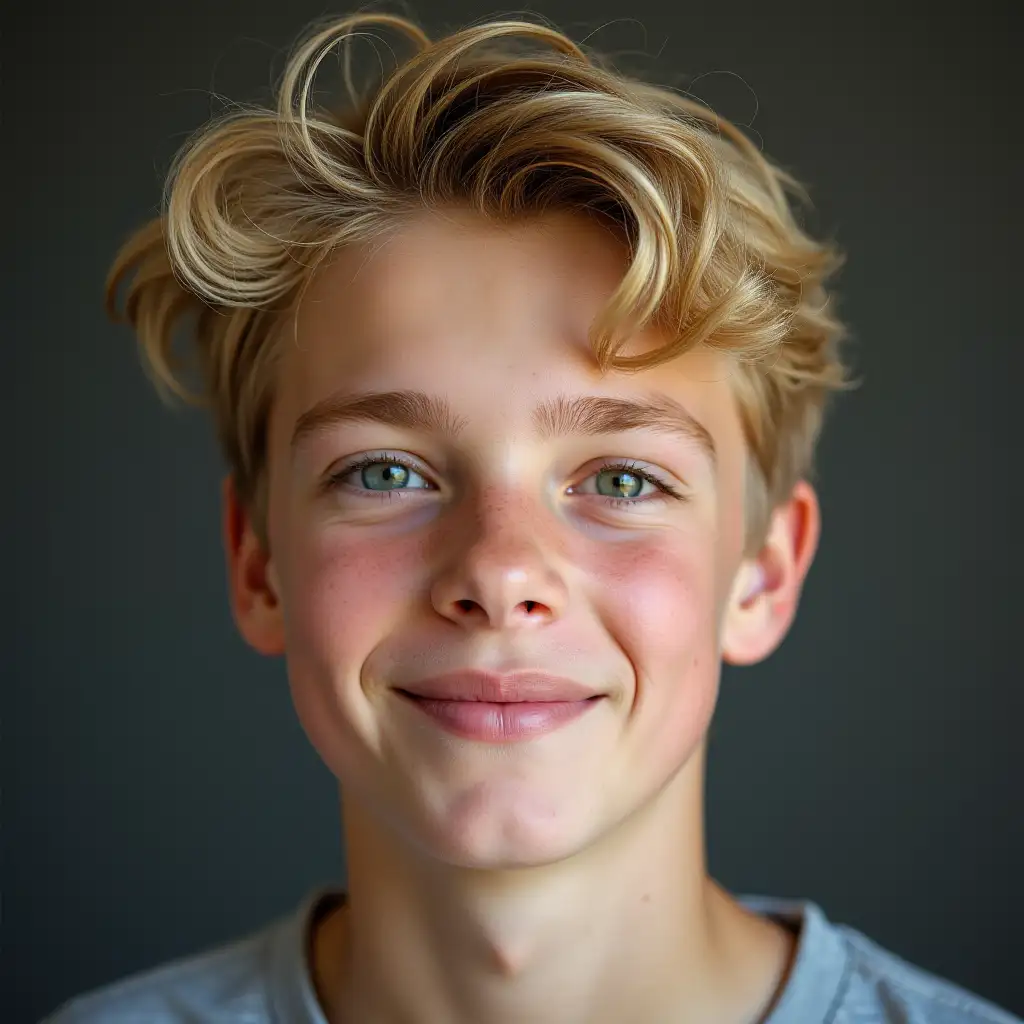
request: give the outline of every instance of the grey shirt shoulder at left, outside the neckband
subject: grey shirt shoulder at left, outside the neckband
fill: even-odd
[[[264,981],[271,932],[268,928],[79,995],[41,1024],[260,1024],[271,1019]]]

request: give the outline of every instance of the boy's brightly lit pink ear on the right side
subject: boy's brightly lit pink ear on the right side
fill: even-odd
[[[744,560],[733,582],[722,625],[722,657],[754,665],[785,638],[821,534],[817,495],[806,480],[772,513],[758,556]]]

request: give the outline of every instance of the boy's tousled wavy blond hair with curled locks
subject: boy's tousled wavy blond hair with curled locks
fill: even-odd
[[[416,45],[369,94],[314,106],[314,76],[342,41],[390,28]],[[132,237],[106,301],[125,316],[162,393],[212,406],[242,501],[266,543],[267,421],[284,312],[339,247],[379,241],[423,209],[499,220],[579,210],[630,247],[592,328],[602,371],[641,371],[697,345],[736,356],[752,455],[748,553],[812,470],[830,391],[846,386],[824,282],[835,248],[787,201],[799,185],[735,126],[677,92],[605,67],[542,24],[496,20],[431,42],[406,18],[356,14],[292,55],[276,109],[240,109],[179,154],[164,214]],[[202,388],[173,351],[182,319]],[[618,354],[637,330],[666,344]]]

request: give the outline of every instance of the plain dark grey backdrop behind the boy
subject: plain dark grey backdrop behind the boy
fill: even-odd
[[[334,783],[283,664],[229,617],[212,430],[160,404],[100,308],[211,91],[265,96],[282,48],[332,9],[20,8],[4,33],[10,1022],[241,935],[343,871]],[[1024,1011],[1010,5],[534,9],[651,55],[624,62],[654,77],[700,76],[694,92],[754,118],[811,183],[815,222],[850,255],[864,386],[821,446],[824,534],[798,623],[767,664],[726,672],[713,869],[811,897]],[[413,12],[436,33],[502,10]]]

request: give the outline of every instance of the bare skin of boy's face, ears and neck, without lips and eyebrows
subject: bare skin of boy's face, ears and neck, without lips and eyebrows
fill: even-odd
[[[793,937],[708,877],[705,741],[722,660],[766,657],[793,622],[818,504],[800,482],[743,558],[728,357],[604,376],[594,361],[588,328],[625,259],[571,213],[515,227],[424,214],[340,255],[284,341],[269,550],[224,483],[239,629],[286,656],[344,792],[349,901],[310,952],[332,1022],[753,1022],[784,984]],[[626,351],[659,342],[649,331]],[[371,390],[443,397],[466,429],[339,423],[292,450],[303,414]],[[535,406],[558,395],[655,392],[702,426],[714,460],[650,429],[535,433]],[[384,461],[369,482],[324,486],[368,454]],[[398,495],[388,455],[416,466]],[[684,500],[634,483],[640,503],[615,507],[616,471],[601,467],[620,459]],[[496,745],[394,692],[471,667],[569,676],[605,697]]]

